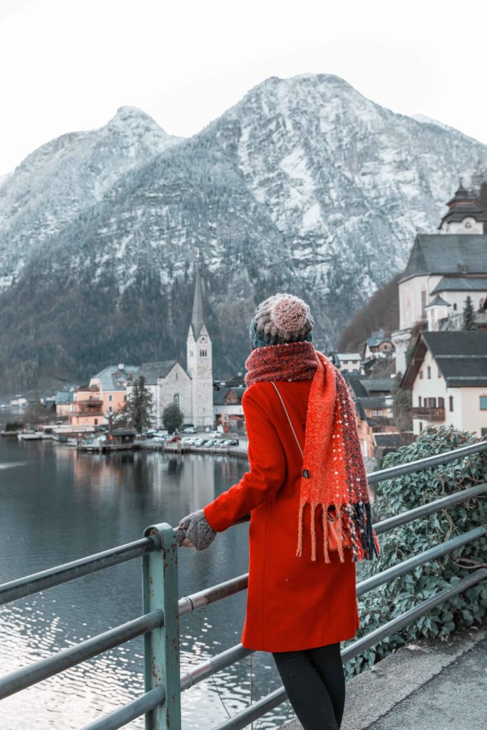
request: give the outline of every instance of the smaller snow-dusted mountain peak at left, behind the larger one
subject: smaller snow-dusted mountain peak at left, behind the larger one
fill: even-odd
[[[105,126],[64,134],[28,155],[0,188],[0,290],[32,250],[179,141],[142,110],[120,107]]]

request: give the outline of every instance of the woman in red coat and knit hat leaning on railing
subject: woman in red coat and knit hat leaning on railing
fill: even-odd
[[[353,403],[312,345],[312,324],[295,296],[257,307],[242,397],[250,470],[180,528],[183,545],[203,550],[250,512],[242,645],[272,652],[304,730],[336,730],[340,642],[358,628],[356,561],[377,555],[378,544]]]

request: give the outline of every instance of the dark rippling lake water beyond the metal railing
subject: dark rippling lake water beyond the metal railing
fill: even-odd
[[[245,461],[159,452],[77,453],[50,441],[0,439],[0,583],[142,537],[236,483]],[[208,550],[180,548],[180,596],[248,570],[248,524]],[[246,593],[180,622],[182,670],[240,640]],[[0,673],[26,666],[142,612],[141,561],[50,588],[0,608]],[[81,729],[143,692],[142,639],[80,664],[0,703],[0,730]],[[183,728],[209,730],[280,685],[272,656],[256,653],[182,695]],[[286,702],[253,723],[275,728]],[[141,730],[143,718],[126,725]]]

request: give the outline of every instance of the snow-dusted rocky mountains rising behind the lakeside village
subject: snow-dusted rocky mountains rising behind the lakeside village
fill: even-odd
[[[334,345],[486,168],[485,145],[334,76],[269,78],[191,139],[123,107],[0,188],[1,388],[184,358],[197,247],[216,376],[242,369],[275,291],[310,301],[316,345]]]

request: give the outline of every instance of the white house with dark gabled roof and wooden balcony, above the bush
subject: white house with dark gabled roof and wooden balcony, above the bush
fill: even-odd
[[[402,378],[413,432],[431,424],[487,436],[487,331],[421,331]]]

